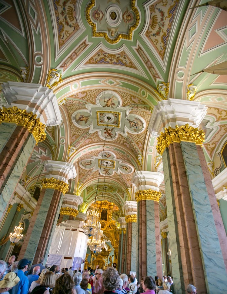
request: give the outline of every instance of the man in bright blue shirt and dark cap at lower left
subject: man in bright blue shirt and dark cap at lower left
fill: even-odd
[[[25,272],[28,269],[28,265],[31,263],[28,259],[21,259],[18,262],[17,271],[15,273],[20,278],[20,282],[14,288],[12,288],[12,294],[27,294],[28,293],[28,278],[25,276]]]

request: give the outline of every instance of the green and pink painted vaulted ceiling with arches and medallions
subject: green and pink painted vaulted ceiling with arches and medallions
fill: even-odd
[[[212,176],[223,168],[217,154],[226,141],[227,77],[192,74],[227,59],[227,12],[188,10],[198,3],[0,1],[0,82],[22,81],[22,68],[29,70],[27,82],[45,86],[50,69],[63,80],[53,87],[62,124],[46,129],[27,179],[38,177],[45,159],[71,162],[77,177],[68,193],[79,193],[89,206],[101,165],[99,183],[105,178],[107,199],[122,211],[133,197],[134,171],[162,171],[148,126],[153,107],[169,97],[208,107],[205,156]],[[4,104],[2,94],[0,99]],[[27,189],[32,184],[25,181]],[[161,206],[165,210],[165,201]]]

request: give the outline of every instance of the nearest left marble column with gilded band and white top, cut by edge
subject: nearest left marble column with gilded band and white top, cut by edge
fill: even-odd
[[[39,84],[6,82],[8,105],[0,110],[0,220],[45,126],[61,123],[53,91]]]

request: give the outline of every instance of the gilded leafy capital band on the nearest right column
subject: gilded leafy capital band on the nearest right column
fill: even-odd
[[[199,130],[199,128],[194,128],[189,126],[189,124],[185,124],[185,126],[178,127],[175,129],[172,127],[165,128],[165,133],[160,134],[157,138],[158,144],[156,149],[159,154],[162,155],[163,151],[169,144],[173,142],[180,143],[181,141],[192,142],[197,145],[202,145],[205,141],[205,133],[203,130]]]

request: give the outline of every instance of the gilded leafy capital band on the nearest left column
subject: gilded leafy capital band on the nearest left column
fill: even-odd
[[[27,111],[21,110],[16,106],[0,109],[0,124],[2,122],[14,123],[18,126],[28,128],[29,132],[33,134],[36,142],[41,142],[45,140],[45,124],[40,122],[37,115],[32,112],[27,113]]]

